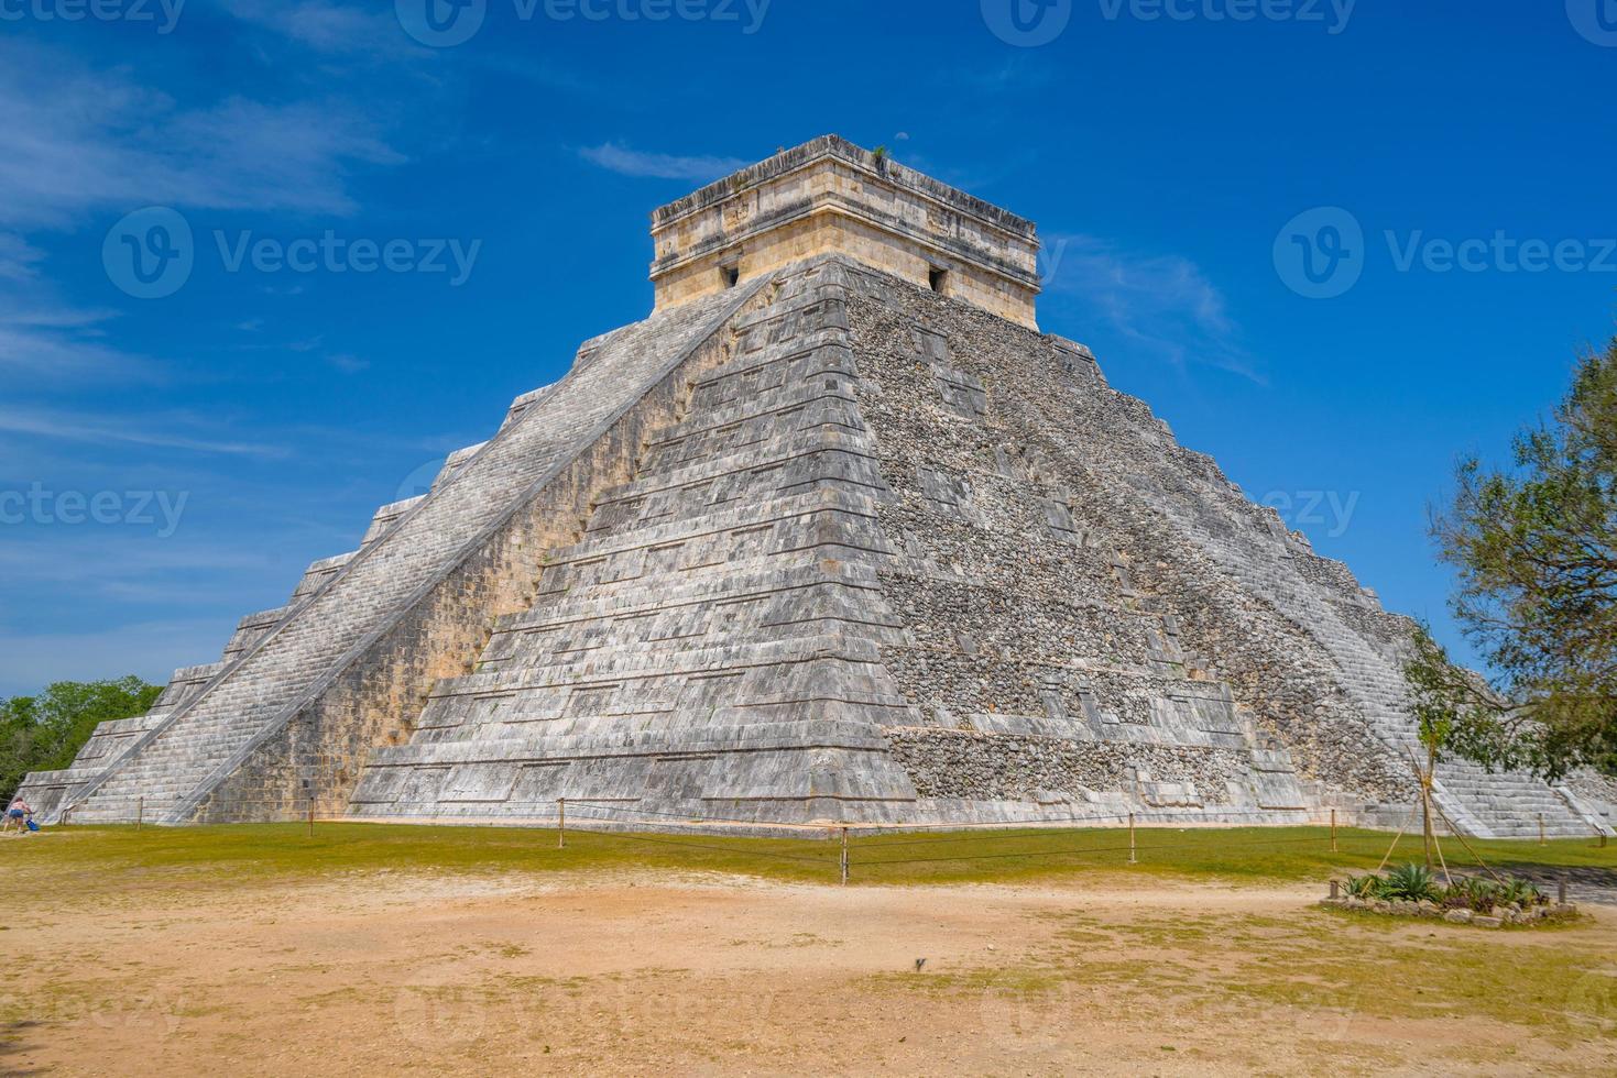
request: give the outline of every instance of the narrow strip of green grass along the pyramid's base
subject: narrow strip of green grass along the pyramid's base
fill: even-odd
[[[1281,882],[1326,881],[1332,873],[1373,870],[1391,836],[1342,829],[1331,852],[1324,827],[1142,829],[1137,865],[1121,829],[1024,829],[855,837],[851,882],[967,884],[1038,881],[1080,873],[1127,871],[1148,876]],[[1502,871],[1581,870],[1611,873],[1617,886],[1617,845],[1593,839],[1538,842],[1470,840]],[[1455,839],[1444,842],[1450,868],[1476,860]],[[1420,837],[1405,836],[1389,863],[1420,860]],[[736,873],[779,881],[834,882],[839,845],[810,839],[737,839],[690,834],[603,834],[569,831],[556,849],[553,829],[432,827],[320,823],[230,824],[207,827],[53,827],[0,845],[0,860],[36,884],[61,894],[95,891],[110,874],[152,884],[197,884],[209,878],[310,878],[372,870],[454,873],[566,873],[613,868],[666,868]],[[1602,871],[1604,870],[1604,871]],[[131,881],[120,881],[120,887]]]

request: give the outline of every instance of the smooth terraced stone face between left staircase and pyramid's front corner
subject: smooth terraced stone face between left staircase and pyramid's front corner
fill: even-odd
[[[558,798],[739,818],[880,816],[914,800],[881,727],[904,630],[868,559],[883,480],[852,402],[838,267],[737,320],[532,609],[372,755],[351,813],[545,816]],[[579,811],[577,808],[574,811]],[[605,808],[598,811],[608,811]]]

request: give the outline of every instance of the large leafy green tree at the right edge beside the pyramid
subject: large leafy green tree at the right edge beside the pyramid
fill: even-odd
[[[1459,579],[1455,617],[1496,676],[1489,690],[1428,677],[1416,697],[1460,721],[1460,752],[1484,764],[1617,774],[1617,339],[1517,435],[1510,467],[1470,457],[1457,480],[1433,535]]]

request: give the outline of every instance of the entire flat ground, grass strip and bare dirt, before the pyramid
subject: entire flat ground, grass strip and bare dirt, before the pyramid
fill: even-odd
[[[1379,918],[1315,897],[1391,834],[1127,839],[859,837],[838,887],[836,840],[50,827],[0,842],[0,1072],[1617,1073],[1609,907]],[[1617,881],[1593,840],[1471,845]]]

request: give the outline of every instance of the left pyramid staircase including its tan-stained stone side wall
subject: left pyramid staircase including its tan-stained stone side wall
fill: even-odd
[[[399,703],[524,604],[543,550],[576,533],[590,483],[623,472],[626,444],[668,407],[671,373],[762,286],[587,343],[561,383],[519,398],[429,495],[383,507],[361,550],[315,562],[285,611],[244,621],[218,667],[165,693],[168,711],[108,731],[123,743],[65,785],[55,811],[78,823],[243,818],[307,798],[310,776],[343,803],[343,769],[351,784],[364,753],[399,735]],[[551,396],[556,407],[534,407]]]

